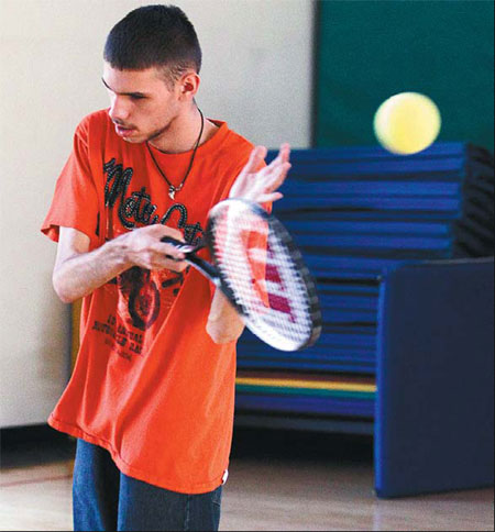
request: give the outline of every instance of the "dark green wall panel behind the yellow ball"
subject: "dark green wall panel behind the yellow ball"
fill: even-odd
[[[493,151],[493,1],[326,0],[318,7],[317,146],[375,144],[380,103],[417,91],[440,108],[440,141]]]

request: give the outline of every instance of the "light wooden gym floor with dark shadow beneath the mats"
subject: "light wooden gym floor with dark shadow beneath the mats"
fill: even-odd
[[[3,442],[2,442],[3,443]],[[494,490],[373,494],[369,437],[237,429],[220,530],[494,530]],[[74,442],[2,444],[0,530],[72,530]]]

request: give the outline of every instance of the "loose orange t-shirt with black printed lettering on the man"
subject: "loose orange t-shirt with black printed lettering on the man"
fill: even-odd
[[[199,146],[175,200],[144,144],[121,140],[102,110],[76,130],[42,231],[87,234],[94,250],[125,231],[164,223],[195,243],[224,199],[252,144],[224,122]],[[154,149],[154,148],[152,148]],[[178,185],[191,152],[154,156]],[[212,285],[184,274],[133,267],[84,299],[80,348],[48,423],[107,448],[124,474],[185,494],[211,491],[228,468],[235,343],[206,332]]]

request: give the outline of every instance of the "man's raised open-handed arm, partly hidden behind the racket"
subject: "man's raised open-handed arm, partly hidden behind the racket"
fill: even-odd
[[[230,198],[241,198],[257,203],[271,203],[282,198],[276,190],[284,182],[290,168],[290,147],[283,144],[278,156],[268,165],[257,170],[266,157],[266,148],[257,146],[251,153],[248,164],[235,179],[230,190]],[[217,344],[234,342],[244,330],[244,324],[239,318],[229,300],[219,289],[215,292],[208,315],[207,332]]]

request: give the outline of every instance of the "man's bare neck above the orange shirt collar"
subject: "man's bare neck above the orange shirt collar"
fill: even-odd
[[[198,146],[211,138],[218,130],[218,126],[212,122],[207,119],[204,120],[205,124]],[[196,146],[200,131],[201,113],[195,106],[186,114],[176,117],[168,129],[156,138],[150,141],[150,144],[164,153],[189,152]]]

